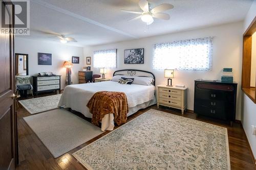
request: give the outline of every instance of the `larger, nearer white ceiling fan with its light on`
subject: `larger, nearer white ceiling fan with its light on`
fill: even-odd
[[[137,16],[128,21],[133,21],[141,18],[143,22],[146,22],[146,25],[151,25],[151,23],[154,22],[154,18],[168,20],[170,16],[168,14],[161,13],[161,12],[174,8],[174,6],[171,4],[160,4],[155,8],[151,9],[151,4],[148,3],[147,0],[140,0],[139,6],[143,10],[143,12],[130,11],[130,10],[121,10],[121,11],[127,12],[127,13],[133,13],[133,14],[140,14],[140,16]]]

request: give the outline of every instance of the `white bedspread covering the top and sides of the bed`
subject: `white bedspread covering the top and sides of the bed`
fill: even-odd
[[[129,85],[113,81],[105,81],[66,86],[61,95],[58,106],[66,106],[66,108],[71,108],[72,110],[82,113],[86,117],[92,118],[92,114],[86,105],[92,98],[93,94],[97,91],[124,92],[126,94],[129,108],[136,107],[137,105],[151,100],[156,101],[155,86],[153,85]]]

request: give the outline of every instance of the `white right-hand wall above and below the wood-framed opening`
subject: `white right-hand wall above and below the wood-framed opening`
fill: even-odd
[[[247,30],[251,21],[256,16],[256,0],[253,1],[252,6],[247,13],[244,21],[244,32]],[[250,143],[251,150],[253,152],[254,158],[256,159],[256,136],[251,134],[251,125],[256,126],[256,104],[254,104],[246,94],[242,92],[242,107],[241,107],[241,120],[242,124]]]

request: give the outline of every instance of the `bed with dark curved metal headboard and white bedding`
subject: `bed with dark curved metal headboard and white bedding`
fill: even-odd
[[[151,77],[155,80],[152,72],[137,70],[137,69],[124,69],[114,72],[113,77],[134,77],[143,79],[143,77]],[[136,113],[139,109],[156,104],[155,98],[155,81],[152,85],[141,84],[120,84],[116,81],[104,81],[97,83],[75,84],[66,86],[64,89],[58,106],[65,106],[72,110],[82,113],[84,116],[91,118],[92,114],[86,106],[95,92],[98,91],[119,91],[124,92],[127,97],[129,112],[127,116]],[[101,121],[101,130],[113,130],[114,128],[114,115],[107,114]]]

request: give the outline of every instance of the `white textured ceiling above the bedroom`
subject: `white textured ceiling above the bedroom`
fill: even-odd
[[[151,0],[151,6],[174,5],[165,11],[170,20],[155,19],[146,27],[137,14],[138,0],[31,0],[31,35],[23,38],[53,41],[51,34],[65,34],[85,46],[149,37],[243,20],[252,0]]]

